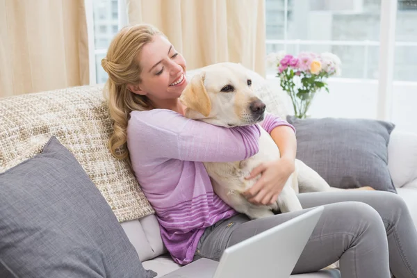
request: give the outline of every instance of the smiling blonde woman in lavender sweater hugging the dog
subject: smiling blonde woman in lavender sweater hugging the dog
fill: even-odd
[[[255,204],[269,204],[294,170],[293,127],[270,114],[261,127],[233,129],[186,119],[179,102],[188,83],[186,61],[156,28],[123,28],[101,65],[109,76],[111,152],[124,158],[128,154],[117,150],[125,144],[129,149],[174,261],[218,260],[226,247],[325,205],[293,273],[314,272],[340,259],[343,277],[388,278],[390,269],[398,278],[417,277],[417,232],[407,206],[393,193],[304,193],[298,196],[304,211],[259,220],[222,202],[202,162],[252,156],[259,150],[260,128],[267,130],[282,156],[252,172],[262,177],[245,195]]]

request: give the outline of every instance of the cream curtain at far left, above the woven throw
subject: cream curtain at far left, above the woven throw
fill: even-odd
[[[0,97],[88,79],[83,0],[0,0]]]

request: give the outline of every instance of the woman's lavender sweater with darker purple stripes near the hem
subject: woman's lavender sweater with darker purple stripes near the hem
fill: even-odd
[[[291,126],[272,114],[261,123],[268,133],[279,125]],[[259,152],[259,136],[258,124],[227,129],[165,109],[131,112],[127,146],[133,171],[177,263],[193,261],[206,227],[236,214],[213,193],[202,162],[253,156]]]

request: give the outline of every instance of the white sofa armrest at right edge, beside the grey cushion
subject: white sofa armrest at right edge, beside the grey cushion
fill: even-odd
[[[388,145],[388,167],[394,186],[417,183],[417,134],[394,129]]]

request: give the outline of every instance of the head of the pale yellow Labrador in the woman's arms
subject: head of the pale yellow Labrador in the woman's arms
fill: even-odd
[[[265,104],[252,92],[252,79],[243,65],[217,63],[193,76],[183,90],[186,117],[218,126],[261,122]]]

